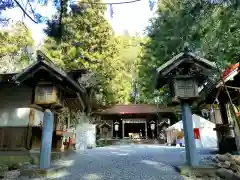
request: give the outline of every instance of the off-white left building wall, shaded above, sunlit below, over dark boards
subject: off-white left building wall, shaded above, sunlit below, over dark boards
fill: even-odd
[[[28,126],[32,89],[24,86],[0,89],[0,127]]]

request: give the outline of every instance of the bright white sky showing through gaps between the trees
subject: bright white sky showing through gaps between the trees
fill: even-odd
[[[24,0],[23,0],[24,1]],[[104,2],[123,2],[128,0],[104,0]],[[130,1],[130,0],[129,0]],[[110,17],[110,12],[106,13],[107,19],[112,24],[116,33],[122,33],[124,30],[128,30],[131,34],[135,32],[142,33],[144,28],[148,25],[149,18],[153,16],[153,12],[150,11],[149,0],[141,0],[139,2],[129,4],[116,4],[113,5],[113,18]],[[48,6],[37,5],[36,11],[40,14],[44,14],[49,18],[55,13],[51,3]],[[19,8],[7,10],[4,12],[5,16],[11,17],[12,20],[22,20],[23,13]],[[33,38],[36,44],[39,44],[44,38],[42,29],[44,24],[35,24],[28,17],[25,17],[25,24],[32,30]]]

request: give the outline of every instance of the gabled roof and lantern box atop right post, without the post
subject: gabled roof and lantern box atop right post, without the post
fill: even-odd
[[[193,53],[180,53],[157,68],[156,88],[168,84],[174,103],[194,101],[202,86],[207,86],[215,64]]]

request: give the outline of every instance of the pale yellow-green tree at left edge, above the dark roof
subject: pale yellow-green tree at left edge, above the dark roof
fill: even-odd
[[[33,60],[31,32],[21,22],[1,29],[0,44],[0,71],[2,73],[18,71]]]

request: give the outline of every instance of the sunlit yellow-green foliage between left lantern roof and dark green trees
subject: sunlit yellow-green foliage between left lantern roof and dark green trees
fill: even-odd
[[[49,36],[42,49],[67,71],[88,68],[96,73],[97,90],[102,90],[105,103],[126,103],[140,49],[138,38],[114,36],[105,10],[96,4],[75,7],[63,17],[61,42]]]

